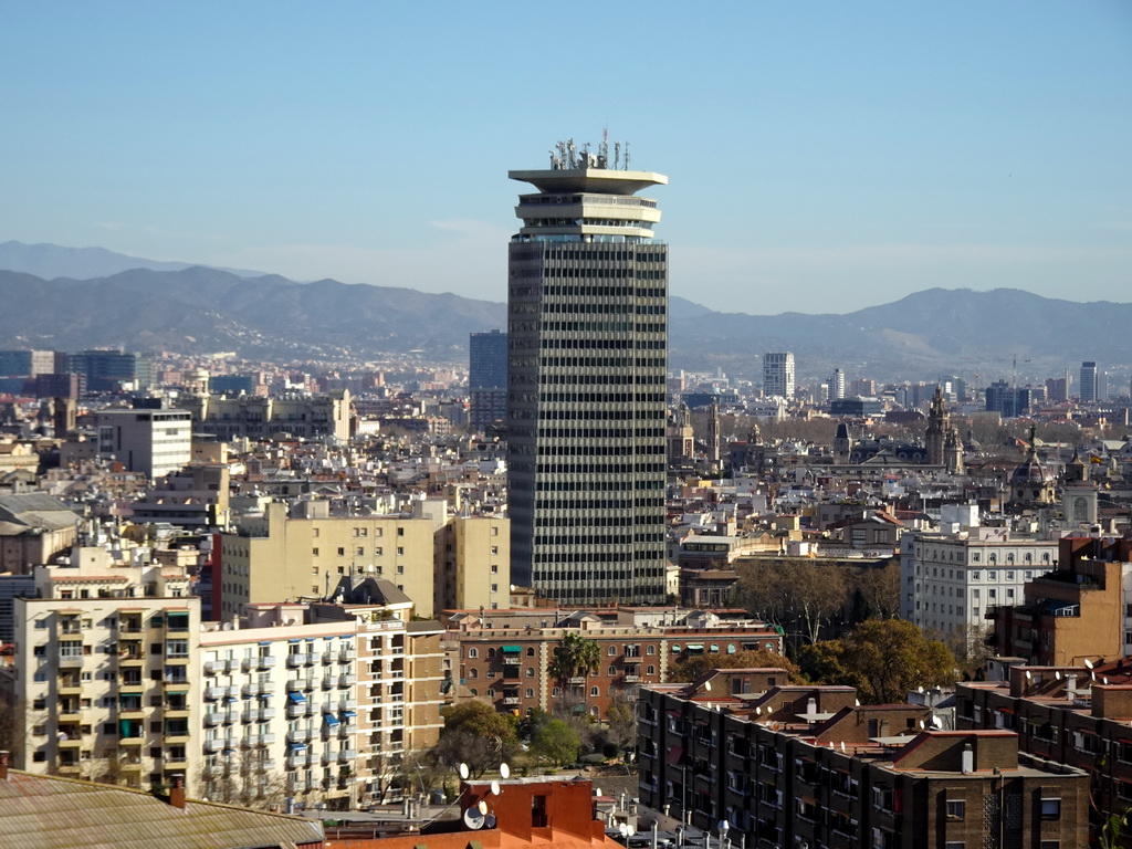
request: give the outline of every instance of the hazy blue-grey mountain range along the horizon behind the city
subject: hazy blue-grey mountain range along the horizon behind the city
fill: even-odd
[[[470,333],[506,326],[506,305],[455,294],[297,283],[188,264],[122,268],[148,260],[102,249],[11,246],[19,243],[0,245],[0,268],[17,266],[0,271],[5,349],[233,351],[275,361],[415,353],[465,362]],[[68,273],[49,278],[32,267],[43,275]],[[1132,359],[1132,305],[1075,303],[1021,290],[931,289],[846,315],[718,312],[672,297],[669,312],[671,368],[722,368],[756,380],[766,351],[794,351],[799,377],[825,377],[840,367],[850,377],[886,380],[979,372],[984,384],[1011,379],[1015,370],[1020,383],[1043,378],[1081,360],[1122,372]]]

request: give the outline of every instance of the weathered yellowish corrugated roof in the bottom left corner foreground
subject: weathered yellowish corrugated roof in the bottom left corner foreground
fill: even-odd
[[[0,849],[235,849],[323,841],[320,823],[213,803],[177,808],[147,792],[9,770]]]

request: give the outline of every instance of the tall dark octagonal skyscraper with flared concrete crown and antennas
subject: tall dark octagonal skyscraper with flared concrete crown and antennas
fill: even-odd
[[[512,578],[566,603],[664,600],[668,178],[559,143],[512,171],[508,474]]]

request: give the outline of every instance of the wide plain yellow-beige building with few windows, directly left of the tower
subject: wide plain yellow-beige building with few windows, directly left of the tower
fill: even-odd
[[[332,515],[328,501],[267,505],[235,533],[220,535],[213,609],[221,618],[248,603],[321,600],[351,576],[389,581],[424,617],[449,607],[506,606],[508,524],[449,517],[439,500],[410,515]]]

